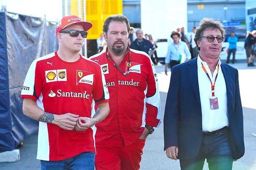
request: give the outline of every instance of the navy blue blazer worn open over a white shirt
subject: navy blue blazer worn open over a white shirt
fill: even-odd
[[[243,110],[238,70],[221,64],[227,89],[229,142],[233,159],[244,155]],[[163,130],[165,149],[179,148],[178,159],[194,158],[202,140],[202,111],[199,96],[197,57],[172,68]]]

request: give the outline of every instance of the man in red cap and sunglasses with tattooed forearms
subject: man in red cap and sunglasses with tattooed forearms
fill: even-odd
[[[100,65],[79,54],[91,27],[77,16],[63,17],[58,51],[35,59],[25,78],[23,112],[39,121],[41,169],[94,169],[92,126],[108,115],[109,92]]]

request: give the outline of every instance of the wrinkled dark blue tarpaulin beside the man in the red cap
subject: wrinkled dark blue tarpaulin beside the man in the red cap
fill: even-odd
[[[57,50],[55,29],[45,19],[0,13],[0,152],[38,131],[38,121],[22,113],[20,92],[32,61]]]

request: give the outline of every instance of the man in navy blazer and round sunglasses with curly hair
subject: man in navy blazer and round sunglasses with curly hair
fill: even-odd
[[[167,157],[181,169],[232,169],[244,155],[243,111],[238,70],[219,60],[225,30],[204,18],[196,29],[200,54],[172,68],[164,140]]]

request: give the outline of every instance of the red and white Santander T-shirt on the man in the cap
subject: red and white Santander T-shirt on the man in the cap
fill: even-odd
[[[109,94],[100,66],[84,56],[76,62],[61,60],[57,52],[37,58],[31,64],[22,98],[34,99],[43,111],[92,117],[92,103],[108,102]],[[41,160],[63,160],[82,152],[94,152],[93,129],[67,131],[39,122],[38,154]]]

